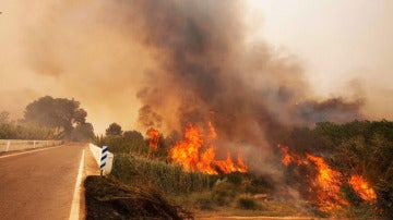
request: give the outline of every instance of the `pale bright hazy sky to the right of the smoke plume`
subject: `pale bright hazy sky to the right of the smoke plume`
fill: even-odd
[[[393,119],[393,1],[250,0],[249,5],[251,21],[262,21],[255,35],[298,56],[315,93],[358,89],[367,99],[365,114]]]

